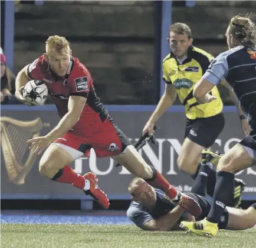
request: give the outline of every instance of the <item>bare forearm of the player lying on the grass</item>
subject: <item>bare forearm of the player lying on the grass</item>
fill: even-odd
[[[182,207],[176,206],[166,215],[163,215],[157,219],[149,220],[148,222],[143,224],[143,229],[147,231],[168,231],[170,229],[173,229],[184,211],[185,210]],[[195,217],[189,215],[187,219],[189,221],[194,221]]]

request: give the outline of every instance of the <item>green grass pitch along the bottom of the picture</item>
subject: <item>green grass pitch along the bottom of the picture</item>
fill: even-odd
[[[256,227],[221,230],[218,236],[192,237],[185,232],[145,232],[134,225],[1,224],[1,248],[6,247],[256,247]]]

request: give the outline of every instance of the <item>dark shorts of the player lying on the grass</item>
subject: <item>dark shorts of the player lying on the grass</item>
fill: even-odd
[[[206,197],[196,195],[195,193],[192,193],[192,192],[185,192],[185,193],[186,195],[192,197],[202,209],[201,215],[195,218],[196,221],[204,220],[208,216],[208,213],[211,210],[212,200],[206,199]],[[219,229],[226,229],[227,225],[228,225],[228,210],[224,209],[221,219],[218,222],[218,227]]]

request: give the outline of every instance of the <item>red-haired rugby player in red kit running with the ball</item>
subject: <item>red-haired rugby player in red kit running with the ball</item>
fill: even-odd
[[[18,73],[15,95],[22,102],[26,102],[22,95],[24,86],[32,79],[47,85],[61,118],[47,135],[28,140],[34,153],[41,154],[46,149],[40,160],[42,175],[84,190],[107,209],[109,199],[99,189],[96,175],[89,172],[81,176],[67,166],[93,148],[97,157],[111,157],[137,177],[162,189],[192,215],[201,214],[198,203],[176,190],[155,168],[147,165],[113,123],[96,95],[86,66],[71,56],[67,39],[50,36],[44,55]]]

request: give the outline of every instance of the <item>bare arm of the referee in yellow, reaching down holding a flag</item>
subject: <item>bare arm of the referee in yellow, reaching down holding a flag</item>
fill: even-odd
[[[176,99],[177,91],[175,86],[172,84],[165,85],[165,92],[163,93],[162,98],[160,99],[159,103],[156,106],[155,111],[150,116],[149,120],[147,121],[144,129],[143,134],[149,132],[149,135],[153,134],[153,127],[158,119],[166,112],[167,109],[172,106],[172,103]]]

